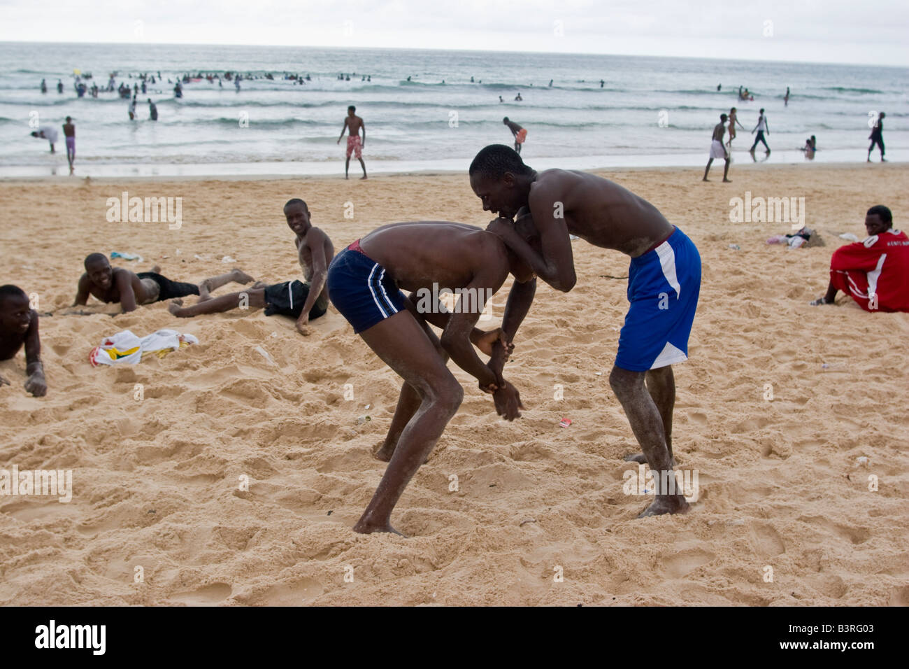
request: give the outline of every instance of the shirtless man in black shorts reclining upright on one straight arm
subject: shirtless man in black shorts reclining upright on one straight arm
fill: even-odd
[[[284,212],[287,226],[296,235],[294,239],[296,258],[307,283],[294,280],[276,283],[273,286],[256,284],[252,289],[220,298],[200,298],[192,307],[184,307],[182,299],[175,299],[168,307],[170,312],[178,318],[185,319],[199,314],[229,311],[241,306],[244,309],[265,307],[265,316],[273,314],[289,316],[296,320],[297,331],[308,335],[309,321],[324,315],[328,309],[325,278],[328,263],[335,257],[335,247],[325,232],[313,227],[309,208],[302,199],[288,200]]]

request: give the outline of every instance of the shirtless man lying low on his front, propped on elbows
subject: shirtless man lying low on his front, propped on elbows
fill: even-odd
[[[133,311],[140,304],[151,304],[164,299],[184,298],[187,295],[207,297],[212,290],[235,281],[246,284],[253,280],[239,269],[220,274],[202,283],[180,283],[158,274],[155,265],[150,272],[131,272],[125,268],[112,268],[103,253],[90,253],[85,257],[85,274],[79,278],[79,288],[73,306],[85,306],[88,296],[94,295],[102,302],[119,302],[124,313]]]

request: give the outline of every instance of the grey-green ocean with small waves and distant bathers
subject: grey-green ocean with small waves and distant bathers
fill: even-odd
[[[88,86],[105,87],[112,72],[117,85],[132,87],[143,72],[156,77],[160,71],[164,80],[149,85],[147,94],[140,92],[138,118],[131,121],[129,101],[116,92],[77,97],[76,69],[93,75]],[[167,82],[226,70],[252,78],[244,79],[239,91],[232,81],[224,80],[223,87],[204,78],[191,81],[181,99]],[[285,73],[311,80],[301,86]],[[339,80],[339,73],[350,80]],[[45,94],[39,90],[42,78]],[[56,91],[58,79],[62,94]],[[739,101],[739,86],[752,91],[754,101]],[[514,100],[517,94],[523,101]],[[149,120],[148,97],[158,108],[156,122]],[[773,152],[766,157],[759,149],[758,161],[804,162],[798,149],[810,135],[817,137],[816,163],[864,161],[869,113],[882,110],[887,157],[901,160],[909,147],[907,103],[904,67],[415,49],[0,43],[0,177],[65,174],[60,126],[66,116],[75,121],[80,176],[343,174],[345,140],[340,146],[336,140],[348,105],[365,121],[370,174],[466,169],[481,147],[513,144],[505,116],[527,128],[522,156],[533,167],[703,166],[712,129],[731,106],[738,107],[745,127],[733,144],[734,161],[752,161],[750,131],[762,106]],[[45,140],[29,136],[30,121],[60,131],[55,156]],[[359,176],[355,160],[351,170]]]

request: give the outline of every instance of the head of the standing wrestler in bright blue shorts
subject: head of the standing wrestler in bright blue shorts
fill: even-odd
[[[483,210],[502,218],[514,218],[526,206],[534,170],[512,147],[491,144],[480,149],[470,164],[470,188],[483,200]]]

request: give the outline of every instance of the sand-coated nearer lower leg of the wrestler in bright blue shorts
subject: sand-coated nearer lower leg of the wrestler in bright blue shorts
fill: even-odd
[[[641,445],[647,464],[654,472],[654,479],[660,481],[664,471],[672,471],[673,459],[666,445],[664,419],[660,415],[660,409],[654,403],[651,393],[644,387],[645,377],[646,374],[643,371],[623,370],[621,367],[613,366],[612,373],[609,375],[609,385],[612,387],[615,397],[622,404],[625,416],[628,417],[628,422],[634,432],[634,438]],[[662,381],[662,387],[657,388],[656,386],[660,385],[660,380],[657,380],[654,390],[658,393],[668,394],[666,378],[664,377]],[[668,491],[658,489],[654,502],[638,517],[679,513],[685,512],[687,509],[688,502],[685,502],[681,492],[668,494]]]

